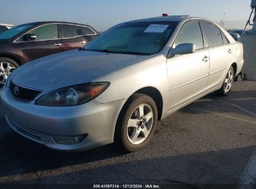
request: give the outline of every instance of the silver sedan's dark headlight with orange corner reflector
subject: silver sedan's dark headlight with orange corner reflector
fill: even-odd
[[[105,91],[110,83],[87,83],[74,85],[45,94],[36,101],[44,106],[75,106],[95,99]]]

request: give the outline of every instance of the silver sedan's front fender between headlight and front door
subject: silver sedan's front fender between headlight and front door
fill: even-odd
[[[130,74],[127,75],[127,73]],[[111,83],[108,89],[96,98],[100,103],[128,99],[141,88],[151,86],[162,94],[163,109],[164,111],[167,109],[168,77],[164,55],[152,55],[140,63],[112,72],[111,77],[105,75],[93,81],[109,81]]]

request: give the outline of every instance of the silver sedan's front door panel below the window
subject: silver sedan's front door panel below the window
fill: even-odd
[[[192,54],[168,58],[168,111],[206,90],[210,62],[203,61],[204,57],[209,57],[209,50],[203,49]]]

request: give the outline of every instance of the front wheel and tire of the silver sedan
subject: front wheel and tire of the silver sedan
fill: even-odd
[[[154,134],[157,120],[154,100],[145,94],[133,94],[116,122],[115,143],[128,152],[145,147]]]

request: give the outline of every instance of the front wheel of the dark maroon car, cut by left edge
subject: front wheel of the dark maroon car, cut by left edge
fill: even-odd
[[[18,67],[19,65],[14,60],[0,57],[0,86],[6,83],[8,76]]]

